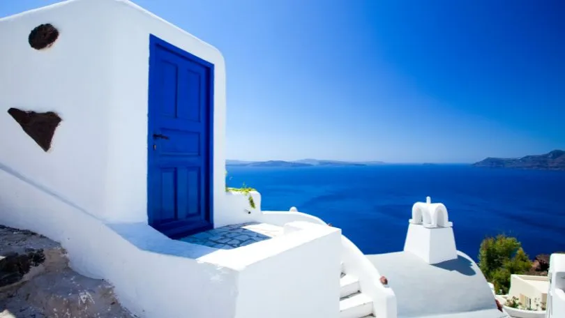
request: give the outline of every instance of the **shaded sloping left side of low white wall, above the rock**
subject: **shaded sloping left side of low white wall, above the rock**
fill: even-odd
[[[144,223],[115,232],[3,170],[0,186],[10,188],[0,191],[0,224],[61,243],[75,271],[111,282],[139,317],[234,317],[239,271],[196,260],[213,249],[170,240]]]

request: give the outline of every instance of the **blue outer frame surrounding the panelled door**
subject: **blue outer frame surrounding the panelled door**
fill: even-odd
[[[148,94],[148,98],[147,98],[147,222],[149,225],[151,225],[152,222],[152,218],[153,216],[151,215],[151,206],[153,206],[153,200],[155,198],[152,197],[150,190],[150,178],[151,178],[151,166],[155,163],[154,160],[156,159],[156,156],[152,156],[153,155],[153,149],[152,149],[152,144],[153,144],[153,130],[155,129],[155,117],[152,117],[152,113],[156,111],[156,105],[158,103],[158,100],[156,100],[156,96],[155,94],[151,94],[152,91],[156,90],[156,86],[157,83],[156,81],[156,76],[151,76],[151,69],[156,67],[157,65],[157,58],[156,58],[156,50],[158,47],[161,47],[169,52],[172,52],[173,54],[179,55],[181,56],[183,59],[188,59],[190,61],[193,61],[195,63],[200,64],[201,66],[204,66],[205,68],[208,69],[208,73],[209,73],[209,89],[208,89],[208,101],[209,101],[209,107],[208,109],[205,109],[205,112],[202,116],[207,115],[208,116],[208,134],[207,134],[207,140],[206,140],[206,144],[208,146],[208,151],[207,151],[207,160],[204,161],[205,166],[206,166],[206,171],[202,174],[204,178],[206,178],[207,180],[207,186],[205,186],[202,190],[204,190],[206,192],[206,195],[204,197],[206,197],[206,200],[208,201],[207,206],[208,206],[208,210],[209,211],[204,211],[204,213],[206,213],[206,215],[209,218],[209,222],[211,225],[211,228],[213,228],[213,224],[214,224],[214,215],[213,215],[213,198],[214,198],[214,182],[213,182],[213,170],[214,170],[214,136],[213,136],[213,131],[214,131],[214,65],[213,63],[210,63],[209,61],[206,61],[204,59],[199,58],[198,56],[195,56],[194,54],[190,54],[189,52],[186,52],[185,50],[182,50],[179,47],[176,47],[174,45],[172,45],[171,43],[168,43],[167,41],[158,38],[157,36],[153,35],[153,34],[149,34],[149,71],[148,71],[148,77],[149,77],[149,81],[148,81],[148,90],[147,90],[147,94]],[[205,183],[206,183],[205,181]],[[202,229],[202,231],[205,231],[207,229]],[[200,230],[198,231],[200,232]],[[186,233],[181,235],[182,236],[186,236],[186,235],[190,235],[190,234],[195,234],[197,232],[192,232],[192,233]]]

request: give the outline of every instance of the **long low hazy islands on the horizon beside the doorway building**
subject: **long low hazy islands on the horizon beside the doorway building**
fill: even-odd
[[[294,161],[268,160],[268,161],[243,161],[243,160],[226,160],[228,166],[239,167],[356,167],[368,165],[382,165],[382,161],[364,161],[364,162],[348,162],[338,160],[317,160],[317,159],[301,159]]]

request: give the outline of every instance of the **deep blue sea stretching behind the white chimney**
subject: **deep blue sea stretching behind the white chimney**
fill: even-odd
[[[227,184],[262,194],[262,210],[316,215],[365,254],[402,250],[412,204],[442,202],[458,250],[477,259],[485,236],[516,236],[525,252],[565,251],[565,172],[469,165],[227,167]]]

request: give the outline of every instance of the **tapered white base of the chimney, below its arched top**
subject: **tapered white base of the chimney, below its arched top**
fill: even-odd
[[[412,252],[428,264],[457,259],[453,227],[428,228],[410,223],[404,250]]]

